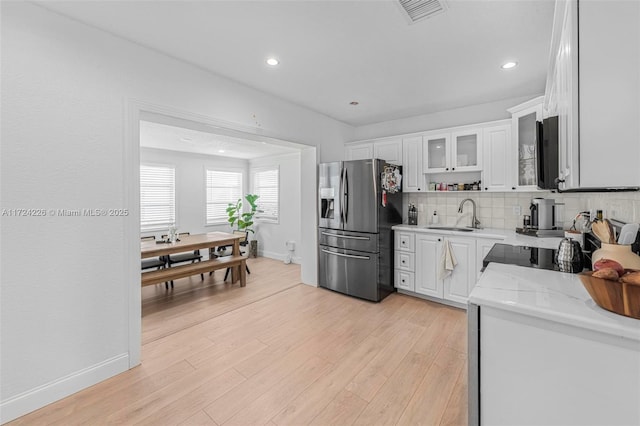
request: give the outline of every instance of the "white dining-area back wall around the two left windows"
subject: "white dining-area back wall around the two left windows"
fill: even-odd
[[[205,170],[229,170],[243,174],[243,192],[249,190],[247,160],[193,154],[154,148],[140,148],[140,163],[162,164],[175,167],[176,178],[176,225],[178,232],[200,234],[211,231],[230,232],[227,224],[205,225],[206,193]],[[168,230],[145,232],[159,238]]]

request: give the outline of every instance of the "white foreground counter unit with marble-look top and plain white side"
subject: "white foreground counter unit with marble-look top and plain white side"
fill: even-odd
[[[640,320],[577,275],[491,263],[468,318],[469,424],[640,424]]]

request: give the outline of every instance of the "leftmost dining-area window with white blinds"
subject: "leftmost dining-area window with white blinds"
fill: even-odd
[[[176,173],[171,166],[140,165],[140,229],[166,229],[176,223]]]

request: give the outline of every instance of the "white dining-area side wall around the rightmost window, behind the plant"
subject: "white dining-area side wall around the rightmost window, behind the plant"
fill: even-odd
[[[277,167],[280,178],[280,218],[278,223],[257,222],[256,239],[260,256],[284,260],[285,243],[294,241],[294,262],[300,263],[300,153],[249,161],[249,170]],[[251,237],[250,237],[251,238]]]

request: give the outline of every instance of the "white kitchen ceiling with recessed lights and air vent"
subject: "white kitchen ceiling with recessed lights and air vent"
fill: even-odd
[[[554,8],[448,0],[409,25],[395,0],[40,4],[356,126],[543,93]]]

